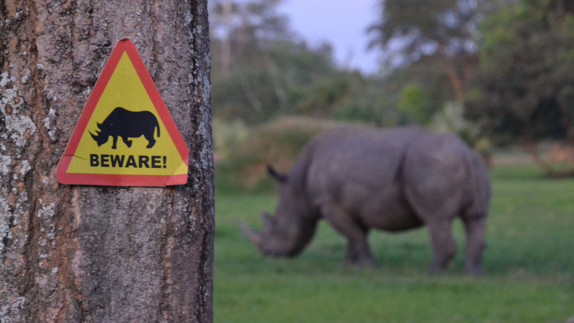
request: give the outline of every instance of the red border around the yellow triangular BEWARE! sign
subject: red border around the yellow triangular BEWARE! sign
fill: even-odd
[[[126,52],[131,64],[133,64],[139,79],[144,84],[144,88],[148,93],[149,98],[152,100],[154,107],[156,107],[161,121],[165,128],[168,130],[169,137],[175,144],[177,151],[180,153],[181,159],[186,167],[189,167],[189,149],[181,137],[179,130],[168,108],[165,106],[164,101],[161,99],[160,93],[157,91],[156,84],[153,83],[152,76],[149,75],[148,70],[145,68],[144,62],[135,49],[134,44],[127,38],[118,41],[108,58],[106,65],[102,70],[94,90],[88,97],[86,106],[80,114],[80,119],[77,121],[76,128],[72,132],[72,137],[60,159],[58,168],[56,170],[56,177],[60,183],[63,184],[85,184],[85,185],[108,185],[108,186],[166,186],[187,183],[188,174],[180,175],[124,175],[124,174],[88,174],[88,173],[68,173],[68,166],[72,161],[72,157],[76,152],[77,146],[82,139],[82,134],[88,126],[88,121],[94,113],[94,109],[98,104],[107,83],[110,81],[111,75],[114,73],[115,68],[118,66],[119,60],[122,58],[123,53]]]

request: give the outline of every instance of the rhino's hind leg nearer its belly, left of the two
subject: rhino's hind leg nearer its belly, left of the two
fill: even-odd
[[[452,221],[432,221],[426,224],[430,232],[430,242],[434,259],[428,268],[429,274],[447,269],[456,254],[456,245],[452,237]]]

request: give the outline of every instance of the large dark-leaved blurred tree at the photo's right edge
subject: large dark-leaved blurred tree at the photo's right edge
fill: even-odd
[[[574,145],[574,5],[562,0],[500,5],[480,32],[467,117],[499,140],[523,140],[548,174],[574,175],[553,168],[534,147],[540,139]]]

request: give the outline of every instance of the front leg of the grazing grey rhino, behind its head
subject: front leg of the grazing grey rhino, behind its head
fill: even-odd
[[[376,267],[367,241],[368,228],[357,223],[348,212],[331,201],[322,203],[321,215],[335,230],[347,238],[345,263]]]

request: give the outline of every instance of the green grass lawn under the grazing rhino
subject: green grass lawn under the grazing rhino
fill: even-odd
[[[574,317],[574,180],[545,179],[534,166],[492,170],[486,276],[425,275],[426,229],[373,232],[380,268],[344,267],[345,241],[321,222],[295,259],[263,257],[235,221],[260,228],[274,195],[218,195],[215,322],[557,322]]]

